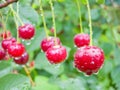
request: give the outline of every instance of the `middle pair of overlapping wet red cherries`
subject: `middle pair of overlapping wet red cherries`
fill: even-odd
[[[40,46],[51,64],[59,64],[67,57],[66,48],[62,46],[58,37],[49,36],[48,38],[44,38]]]

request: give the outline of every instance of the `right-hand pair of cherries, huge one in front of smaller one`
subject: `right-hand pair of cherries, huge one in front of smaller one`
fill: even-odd
[[[104,63],[104,52],[97,46],[90,46],[88,34],[77,34],[74,43],[78,47],[74,54],[74,66],[86,75],[97,73]]]

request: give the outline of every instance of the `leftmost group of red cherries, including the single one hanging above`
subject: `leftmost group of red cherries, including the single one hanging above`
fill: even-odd
[[[24,24],[23,26],[19,26],[18,34],[19,38],[29,40],[34,36],[35,28],[31,24]],[[0,60],[6,60],[6,57],[11,57],[19,65],[28,62],[29,55],[26,52],[25,46],[12,37],[10,31],[1,33],[0,37],[3,38],[0,49]]]

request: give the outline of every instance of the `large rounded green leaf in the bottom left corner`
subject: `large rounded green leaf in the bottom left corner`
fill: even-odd
[[[21,74],[8,74],[0,78],[0,90],[28,90],[30,81]]]

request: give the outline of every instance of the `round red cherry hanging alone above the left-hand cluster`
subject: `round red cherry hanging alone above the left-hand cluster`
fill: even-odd
[[[35,28],[31,24],[25,24],[18,28],[19,37],[22,39],[31,39],[35,34]]]

